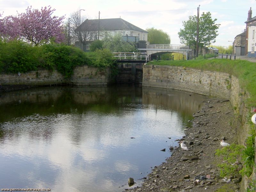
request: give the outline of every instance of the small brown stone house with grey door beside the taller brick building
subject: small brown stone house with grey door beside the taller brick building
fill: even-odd
[[[233,53],[237,56],[245,55],[245,41],[246,40],[246,31],[244,29],[244,32],[237,35],[235,37],[235,40],[233,42]]]

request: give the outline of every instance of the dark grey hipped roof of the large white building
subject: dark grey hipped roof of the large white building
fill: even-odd
[[[80,28],[84,28],[88,25],[90,25],[90,31],[98,31],[99,20],[98,19],[92,19],[92,20],[87,19],[76,29],[76,31],[79,31]],[[112,30],[125,30],[125,29],[148,33],[147,31],[145,31],[145,30],[121,19],[121,18],[100,19],[100,30],[112,31]]]

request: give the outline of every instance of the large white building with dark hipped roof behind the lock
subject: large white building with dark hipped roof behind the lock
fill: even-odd
[[[85,20],[76,31],[88,31],[86,34],[86,49],[89,49],[90,42],[98,39],[102,40],[105,35],[114,36],[119,33],[123,36],[124,41],[148,41],[148,32],[121,19],[93,19]],[[147,42],[148,44],[148,42]],[[82,48],[80,42],[76,42],[76,46]]]

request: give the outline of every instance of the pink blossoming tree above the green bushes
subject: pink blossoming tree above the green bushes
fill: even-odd
[[[7,16],[2,20],[4,29],[1,36],[20,38],[35,45],[52,40],[60,43],[64,39],[61,27],[64,16],[52,16],[54,11],[50,6],[42,7],[41,10],[30,6],[25,13]]]

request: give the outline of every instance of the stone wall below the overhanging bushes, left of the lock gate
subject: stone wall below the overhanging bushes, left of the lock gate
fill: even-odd
[[[105,85],[111,82],[110,69],[100,71],[98,68],[78,66],[70,79],[57,70],[40,69],[28,73],[0,74],[0,84],[6,85],[50,85],[50,84],[76,84],[76,85]]]

